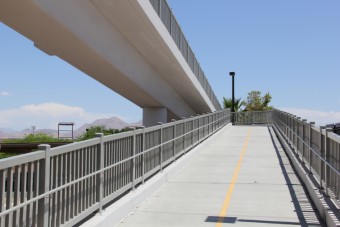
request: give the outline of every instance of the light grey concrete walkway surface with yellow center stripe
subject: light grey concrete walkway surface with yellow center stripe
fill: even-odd
[[[274,131],[225,127],[119,226],[323,226]]]

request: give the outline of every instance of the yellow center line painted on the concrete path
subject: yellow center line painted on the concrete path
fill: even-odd
[[[233,194],[235,183],[236,183],[238,174],[239,174],[240,169],[241,169],[242,159],[243,159],[244,154],[246,153],[246,150],[247,150],[247,147],[248,147],[250,134],[251,134],[251,129],[248,130],[248,134],[247,134],[246,140],[245,140],[245,142],[243,144],[243,148],[242,148],[242,152],[241,152],[240,158],[238,160],[236,169],[234,171],[233,178],[232,178],[231,183],[229,185],[229,189],[228,189],[227,195],[226,195],[226,197],[224,199],[224,202],[223,202],[223,207],[222,207],[222,209],[220,211],[220,214],[218,216],[218,221],[217,221],[216,227],[222,227],[224,217],[227,216],[227,211],[228,211],[231,195]]]

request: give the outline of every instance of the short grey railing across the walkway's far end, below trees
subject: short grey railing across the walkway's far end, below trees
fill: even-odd
[[[272,111],[233,112],[231,119],[236,125],[271,124]]]

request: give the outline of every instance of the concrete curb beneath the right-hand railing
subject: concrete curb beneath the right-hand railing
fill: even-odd
[[[285,139],[282,137],[276,126],[273,126],[275,134],[278,136],[280,143],[282,144],[285,152],[287,153],[289,159],[291,160],[294,169],[304,183],[310,198],[312,199],[316,209],[318,210],[321,218],[325,221],[326,225],[329,227],[339,227],[340,221],[337,218],[338,210],[331,209],[328,204],[332,204],[330,198],[325,197],[324,194],[319,190],[318,186],[313,183],[313,175],[306,172],[305,167],[297,159],[294,152],[291,150],[290,146],[287,144]]]

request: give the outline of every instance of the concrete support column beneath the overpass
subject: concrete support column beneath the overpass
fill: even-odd
[[[167,123],[168,110],[164,107],[145,107],[143,108],[143,125],[150,127],[157,125],[158,122]]]

